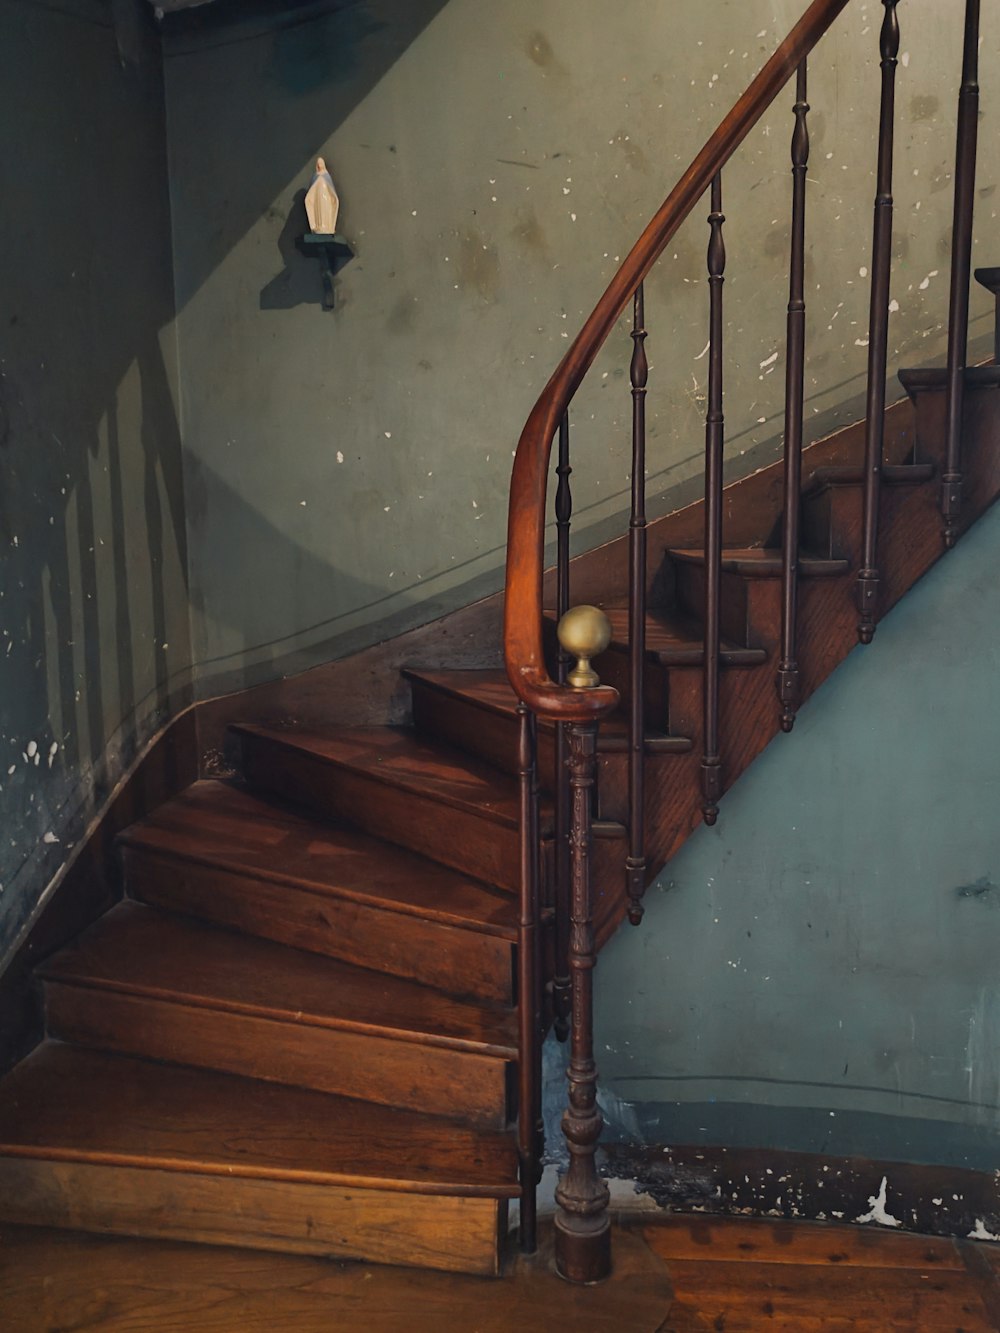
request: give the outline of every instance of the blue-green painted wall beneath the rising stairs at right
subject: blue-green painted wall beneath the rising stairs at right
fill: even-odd
[[[993,509],[601,954],[625,1136],[995,1169],[999,565]]]

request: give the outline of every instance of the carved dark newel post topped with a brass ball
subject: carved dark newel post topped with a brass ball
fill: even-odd
[[[607,648],[611,625],[596,607],[575,607],[559,625],[560,643],[580,656],[568,682],[592,688],[597,677],[589,659]],[[571,860],[572,904],[569,974],[572,1028],[569,1036],[569,1105],[563,1133],[569,1166],[556,1186],[556,1268],[572,1282],[597,1282],[611,1272],[608,1186],[595,1160],[603,1120],[597,1109],[597,1066],[593,1060],[593,904],[591,898],[591,809],[597,753],[596,722],[569,728],[569,785],[572,796]]]

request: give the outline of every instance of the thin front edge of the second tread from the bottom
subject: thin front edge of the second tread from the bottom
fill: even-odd
[[[360,1036],[376,1037],[385,1041],[403,1041],[413,1046],[433,1046],[441,1050],[459,1050],[465,1054],[489,1056],[497,1060],[515,1061],[517,1058],[516,1040],[509,1045],[495,1041],[480,1041],[473,1037],[448,1036],[441,1032],[417,1032],[413,1028],[396,1028],[388,1022],[365,1022],[363,1018],[345,1018],[339,1014],[307,1014],[301,1010],[275,1009],[264,1004],[244,1004],[239,1000],[229,1000],[223,996],[188,994],[183,990],[168,990],[163,986],[152,986],[145,982],[115,981],[109,977],[89,977],[75,973],[60,973],[55,958],[43,962],[36,969],[36,976],[51,985],[73,986],[77,990],[97,990],[105,994],[132,996],[140,1000],[152,1000],[160,1004],[176,1005],[181,1009],[200,1009],[209,1013],[231,1013],[248,1018],[264,1018],[271,1022],[291,1024],[293,1026],[321,1028],[332,1032],[352,1032]],[[349,966],[349,964],[344,964]],[[381,973],[380,973],[381,976]],[[392,977],[387,977],[392,981]],[[407,981],[407,985],[416,986],[419,982]],[[444,992],[441,992],[444,993]],[[485,1012],[501,1013],[505,1010],[488,1009]]]

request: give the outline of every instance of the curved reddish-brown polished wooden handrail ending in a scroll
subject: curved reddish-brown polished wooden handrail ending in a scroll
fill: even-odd
[[[797,65],[809,55],[849,0],[813,0],[716,132],[695,157],[611,280],[532,408],[511,476],[507,527],[504,659],[511,685],[533,712],[563,722],[593,721],[617,704],[607,685],[573,689],[547,669],[541,647],[541,580],[545,549],[545,495],[552,439],[636,288],[705,193],[716,172],[760,120]]]

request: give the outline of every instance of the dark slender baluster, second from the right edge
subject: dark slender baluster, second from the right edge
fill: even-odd
[[[879,116],[879,183],[872,241],[872,305],[868,321],[868,395],[864,443],[864,536],[857,573],[857,637],[869,644],[879,617],[879,495],[885,436],[885,367],[889,341],[889,276],[892,271],[892,148],[896,113],[899,17],[896,0],[885,5],[881,51],[881,111]]]

